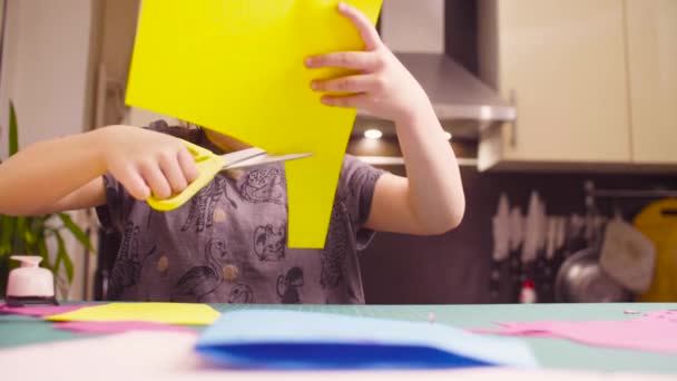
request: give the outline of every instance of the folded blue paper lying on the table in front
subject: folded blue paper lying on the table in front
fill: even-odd
[[[230,368],[420,369],[537,362],[520,340],[469,333],[440,323],[249,310],[226,312],[197,351]]]

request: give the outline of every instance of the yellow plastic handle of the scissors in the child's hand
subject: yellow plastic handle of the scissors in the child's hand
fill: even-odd
[[[169,198],[159,199],[150,195],[148,197],[148,205],[156,211],[174,211],[179,206],[184,205],[188,199],[193,198],[202,188],[207,186],[209,182],[224,168],[223,157],[212,153],[210,150],[195,145],[190,141],[181,140],[188,152],[195,159],[197,166],[198,176],[190,183],[181,193],[174,195]]]

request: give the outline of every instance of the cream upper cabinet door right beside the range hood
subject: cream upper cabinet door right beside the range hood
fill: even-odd
[[[480,166],[628,163],[622,1],[488,0],[480,12],[482,76],[518,110],[484,135]]]

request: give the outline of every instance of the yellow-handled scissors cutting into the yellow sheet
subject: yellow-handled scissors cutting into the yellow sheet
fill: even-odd
[[[199,172],[197,178],[188,184],[188,186],[169,198],[159,199],[153,195],[148,197],[148,205],[156,211],[173,211],[184,205],[188,199],[193,198],[202,188],[207,186],[212,179],[224,169],[246,168],[268,163],[287,162],[303,157],[312,156],[313,154],[290,154],[290,155],[268,155],[265,149],[253,147],[243,150],[216,155],[209,149],[203,148],[190,141],[183,140],[188,152],[195,159],[195,165]]]

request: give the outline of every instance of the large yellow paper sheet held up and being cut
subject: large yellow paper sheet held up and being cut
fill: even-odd
[[[382,0],[347,1],[375,22]],[[343,154],[356,115],[331,108],[311,80],[312,55],[362,50],[337,0],[145,0],[127,104],[230,135],[286,164],[290,247],[324,247]]]

